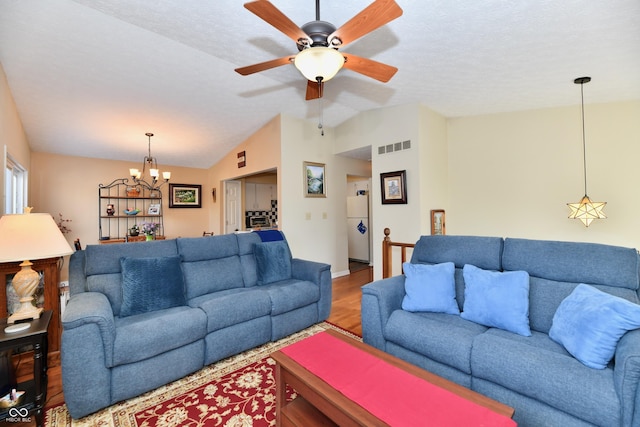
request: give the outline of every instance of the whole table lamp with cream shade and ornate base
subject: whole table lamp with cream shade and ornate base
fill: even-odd
[[[0,262],[22,261],[21,270],[13,277],[12,284],[20,298],[20,307],[9,316],[8,324],[18,320],[37,319],[42,308],[35,307],[33,293],[40,282],[40,275],[31,269],[30,260],[56,258],[73,253],[53,218],[48,213],[31,213],[0,217]]]

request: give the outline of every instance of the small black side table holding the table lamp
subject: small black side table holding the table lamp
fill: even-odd
[[[0,319],[0,351],[33,346],[33,379],[17,385],[16,390],[25,391],[24,398],[19,405],[0,408],[0,421],[26,422],[35,414],[36,425],[43,425],[47,400],[47,328],[51,315],[51,310],[44,311],[39,319],[28,322],[28,329],[15,333],[6,333],[7,319]]]

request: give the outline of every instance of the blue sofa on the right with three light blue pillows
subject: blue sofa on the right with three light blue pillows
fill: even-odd
[[[497,237],[422,236],[408,267],[440,268],[448,262],[455,266],[457,307],[453,309],[463,314],[404,310],[409,276],[375,281],[362,288],[364,341],[514,407],[514,420],[521,426],[640,426],[640,330],[621,332],[612,349],[613,360],[603,365],[604,369],[586,366],[565,348],[565,341],[559,343],[549,335],[566,325],[558,313],[570,307],[565,301],[584,287],[580,284],[603,291],[608,295],[598,295],[616,303],[622,300],[610,295],[630,301],[632,304],[623,304],[635,310],[631,316],[635,319],[630,320],[640,326],[640,262],[635,249]],[[478,286],[468,275],[471,268],[465,265],[498,275],[527,272],[525,314],[530,336],[464,318],[464,312],[471,310],[465,298],[477,298],[470,291],[470,280]],[[577,315],[590,312],[586,305],[584,310],[580,303],[575,306]],[[480,314],[488,311],[490,305]],[[592,311],[604,316],[601,319],[615,317],[613,312]],[[597,328],[601,323],[578,327],[584,326],[586,331],[587,326]],[[586,341],[580,334],[572,339],[578,346]]]

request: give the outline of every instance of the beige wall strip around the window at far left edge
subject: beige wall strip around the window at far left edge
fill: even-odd
[[[22,128],[22,122],[20,121],[16,104],[11,96],[7,76],[4,73],[2,64],[0,64],[0,166],[2,166],[2,173],[0,174],[0,193],[2,195],[2,200],[0,200],[0,214],[4,212],[5,208],[5,153],[11,155],[11,157],[25,169],[29,169],[31,159],[29,142]]]

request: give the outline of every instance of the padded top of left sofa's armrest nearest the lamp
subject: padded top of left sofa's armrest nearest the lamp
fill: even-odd
[[[113,342],[116,327],[111,304],[106,295],[99,292],[82,292],[68,302],[62,317],[62,329],[73,334],[83,326],[95,325],[100,334],[107,366],[113,362]],[[94,349],[95,351],[95,349]]]

